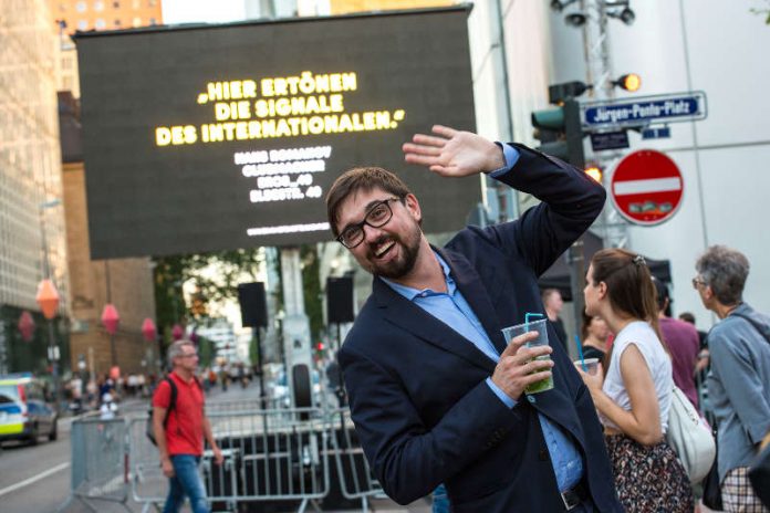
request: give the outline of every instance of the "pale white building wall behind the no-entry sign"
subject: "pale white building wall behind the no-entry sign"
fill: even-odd
[[[548,85],[586,78],[582,32],[563,21],[579,4],[555,13],[545,1],[475,2],[469,27],[477,121],[479,132],[490,137],[504,125],[496,100],[501,94],[499,71],[488,64],[496,50],[495,39],[489,36],[496,3],[504,27],[513,134],[517,140],[533,144],[529,114],[547,106]],[[700,304],[689,280],[697,255],[710,244],[727,244],[747,254],[752,269],[745,299],[770,311],[770,296],[763,290],[770,281],[770,261],[763,256],[770,238],[764,235],[761,214],[764,191],[770,190],[770,124],[762,114],[770,112],[770,98],[764,94],[770,78],[764,56],[770,28],[763,17],[750,12],[755,3],[632,1],[633,25],[610,20],[613,75],[642,75],[637,95],[705,91],[708,97],[707,119],[672,124],[669,139],[642,140],[632,132],[627,150],[665,151],[683,172],[685,193],[679,211],[658,227],[629,227],[628,245],[670,261],[674,311],[694,312],[701,328],[715,318]],[[618,97],[629,95],[617,91]],[[590,94],[581,100],[590,100]],[[616,164],[617,159],[605,170],[605,182]]]

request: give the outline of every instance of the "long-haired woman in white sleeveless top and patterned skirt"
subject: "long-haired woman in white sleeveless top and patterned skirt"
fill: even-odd
[[[693,489],[666,443],[672,362],[657,325],[655,286],[644,258],[599,251],[586,274],[585,313],[615,333],[606,378],[580,371],[600,418],[615,486],[627,512],[693,512]]]

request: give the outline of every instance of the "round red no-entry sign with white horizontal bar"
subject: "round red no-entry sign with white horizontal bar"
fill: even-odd
[[[633,151],[617,164],[610,195],[617,211],[635,224],[654,226],[670,219],[685,190],[679,168],[652,149]]]

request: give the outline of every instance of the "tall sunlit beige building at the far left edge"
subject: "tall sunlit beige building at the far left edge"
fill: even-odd
[[[4,0],[0,23],[0,304],[38,310],[45,262],[67,283],[60,205],[56,36],[43,0]],[[43,203],[50,202],[46,207]]]

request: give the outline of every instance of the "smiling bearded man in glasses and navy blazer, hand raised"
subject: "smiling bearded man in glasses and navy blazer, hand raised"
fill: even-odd
[[[407,163],[447,179],[488,174],[541,203],[437,248],[396,175],[354,168],[331,187],[332,231],[374,275],[340,350],[366,457],[402,504],[444,483],[455,513],[620,512],[596,412],[555,332],[531,348],[537,333],[507,344],[501,332],[542,315],[537,276],[602,211],[604,189],[524,146],[433,132],[404,145]],[[551,377],[552,389],[524,394]]]

